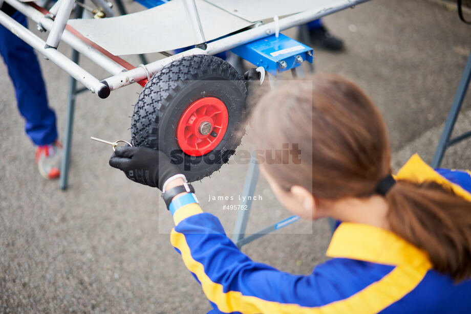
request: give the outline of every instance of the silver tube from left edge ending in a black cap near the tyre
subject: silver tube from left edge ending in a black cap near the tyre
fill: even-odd
[[[72,62],[65,55],[56,49],[45,49],[44,40],[37,37],[30,30],[19,24],[13,18],[3,11],[0,11],[0,24],[11,31],[13,34],[23,39],[32,48],[36,49],[40,54],[59,65],[61,69],[66,71],[74,79],[85,85],[92,93],[97,93],[100,98],[106,98],[110,95],[110,88],[101,83],[97,78],[83,70],[76,63]],[[27,73],[24,73],[28,75]]]

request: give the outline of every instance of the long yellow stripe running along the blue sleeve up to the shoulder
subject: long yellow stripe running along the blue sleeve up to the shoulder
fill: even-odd
[[[417,262],[415,266],[399,265],[381,280],[369,285],[355,295],[320,307],[303,307],[266,301],[253,296],[244,296],[239,291],[224,293],[223,286],[212,282],[204,272],[203,264],[191,257],[184,234],[172,230],[172,245],[177,248],[188,270],[201,282],[204,294],[224,312],[240,311],[247,314],[257,313],[298,313],[298,314],[337,314],[337,313],[377,313],[400,300],[422,281],[429,270],[429,262]]]

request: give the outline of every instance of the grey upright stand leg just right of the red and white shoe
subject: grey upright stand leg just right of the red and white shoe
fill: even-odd
[[[78,0],[83,3],[83,0]],[[83,8],[77,6],[75,8],[75,18],[80,18],[83,15]],[[72,50],[72,61],[78,64],[79,53]],[[64,132],[63,141],[63,156],[60,162],[60,180],[59,185],[61,190],[66,190],[69,182],[69,166],[70,166],[70,153],[72,148],[72,131],[74,125],[75,113],[75,96],[77,95],[77,81],[73,77],[69,77],[69,93],[67,95],[67,117],[66,128]]]

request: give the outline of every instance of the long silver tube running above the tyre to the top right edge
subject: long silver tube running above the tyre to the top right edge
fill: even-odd
[[[323,11],[319,11],[318,9],[309,10],[297,14],[290,15],[288,17],[282,18],[279,20],[278,25],[280,26],[280,31],[284,31],[288,28],[303,25],[312,21],[314,19],[323,17],[325,15],[355,6],[357,4],[367,2],[369,0],[337,0],[335,3],[331,4],[330,9],[326,9]],[[255,27],[249,29],[247,31],[237,33],[222,39],[218,39],[213,42],[209,42],[207,44],[206,50],[202,50],[200,48],[193,48],[179,54],[173,55],[171,57],[167,57],[164,59],[160,59],[154,61],[152,63],[146,64],[147,71],[151,76],[155,73],[160,71],[165,65],[180,59],[185,56],[197,55],[197,54],[204,54],[204,55],[213,55],[217,54],[234,47],[238,47],[241,44],[265,37],[270,34],[274,34],[275,32],[275,23],[271,22],[265,25],[261,25],[259,27]],[[125,73],[120,73],[118,75],[106,78],[104,81],[108,83],[110,89],[114,91],[115,89],[127,86],[134,82],[138,82],[143,80],[147,77],[146,72],[142,68],[136,68]]]

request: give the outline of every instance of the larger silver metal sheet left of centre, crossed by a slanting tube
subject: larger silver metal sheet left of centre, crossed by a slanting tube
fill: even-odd
[[[203,0],[196,1],[204,36],[212,40],[252,25]],[[71,19],[69,25],[114,55],[168,51],[197,44],[181,0],[103,19]]]

